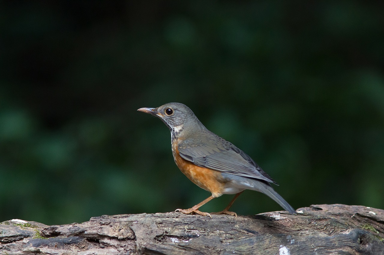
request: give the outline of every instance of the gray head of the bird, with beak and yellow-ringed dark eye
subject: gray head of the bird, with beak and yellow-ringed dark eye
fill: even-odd
[[[159,117],[170,129],[172,136],[179,134],[185,127],[192,130],[205,129],[193,111],[181,103],[166,103],[157,108],[140,108],[137,111]]]

